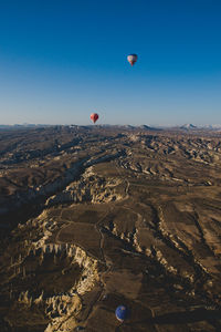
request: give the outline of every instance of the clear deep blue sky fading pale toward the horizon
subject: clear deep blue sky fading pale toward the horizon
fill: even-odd
[[[90,124],[92,112],[220,124],[221,1],[0,1],[0,124]]]

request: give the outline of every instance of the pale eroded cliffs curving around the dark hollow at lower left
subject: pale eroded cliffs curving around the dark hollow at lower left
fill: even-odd
[[[10,300],[13,312],[6,314],[10,325],[27,326],[41,322],[45,331],[73,331],[82,309],[81,297],[99,282],[97,260],[75,245],[54,243],[49,239],[57,229],[56,221],[44,211],[36,219],[19,226],[6,253],[6,278],[10,280]],[[20,237],[28,237],[20,248]],[[7,289],[6,289],[7,291]],[[33,314],[27,321],[21,315]],[[48,326],[46,326],[48,324]],[[24,329],[27,329],[24,328]]]

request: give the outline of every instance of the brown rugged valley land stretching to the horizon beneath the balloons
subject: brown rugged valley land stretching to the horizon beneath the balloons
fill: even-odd
[[[2,332],[221,331],[220,132],[1,129],[0,230]]]

